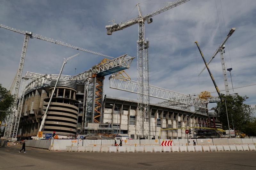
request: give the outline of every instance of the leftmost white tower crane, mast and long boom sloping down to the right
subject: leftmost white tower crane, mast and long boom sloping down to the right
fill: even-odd
[[[14,96],[14,99],[15,99],[15,105],[13,106],[13,109],[16,107],[16,104],[17,104],[17,101],[18,101],[17,99],[18,99],[18,92],[19,92],[19,88],[20,88],[21,74],[22,74],[22,70],[23,70],[23,65],[24,65],[24,61],[25,61],[25,56],[26,56],[26,51],[27,51],[27,47],[28,47],[29,38],[36,38],[36,39],[39,39],[39,40],[52,42],[54,44],[59,44],[59,45],[65,46],[65,47],[74,48],[74,49],[84,51],[84,52],[88,52],[88,53],[92,53],[92,54],[95,54],[95,55],[100,55],[100,56],[104,56],[104,57],[108,57],[108,58],[114,58],[114,57],[111,57],[111,56],[108,56],[108,55],[105,55],[105,54],[101,54],[99,52],[94,52],[92,50],[76,47],[76,46],[73,46],[71,44],[68,44],[68,43],[65,43],[65,42],[62,42],[62,41],[59,41],[59,40],[55,40],[55,39],[52,39],[52,38],[48,38],[48,37],[45,37],[45,36],[42,36],[42,35],[39,35],[39,34],[35,34],[35,33],[32,33],[32,32],[29,32],[29,31],[22,31],[22,30],[15,29],[15,28],[12,28],[12,27],[9,27],[9,26],[4,26],[2,24],[0,24],[0,28],[4,28],[4,29],[10,30],[10,31],[13,31],[15,33],[20,33],[20,34],[25,35],[25,39],[24,39],[24,43],[23,43],[23,47],[22,47],[22,52],[21,52],[21,57],[20,57],[20,65],[19,65],[19,69],[18,69],[18,74],[17,74],[17,78],[15,80],[15,88],[14,88],[15,90],[14,90],[14,93],[13,93],[13,96]],[[6,126],[5,129],[7,130],[7,133],[5,133],[4,137],[11,137],[11,133],[12,133],[11,124],[13,124],[13,120],[14,120],[13,116],[14,115],[10,115],[9,119],[7,120],[8,125],[10,125],[10,126]]]

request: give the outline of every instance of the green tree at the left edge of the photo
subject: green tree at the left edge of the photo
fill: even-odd
[[[6,90],[6,88],[2,87],[0,84],[0,110],[8,110],[12,107],[14,103],[14,97],[10,91]],[[6,116],[10,112],[0,112],[0,121],[4,121]]]

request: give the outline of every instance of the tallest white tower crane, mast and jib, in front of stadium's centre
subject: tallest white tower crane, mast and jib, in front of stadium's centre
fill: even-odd
[[[138,41],[137,41],[137,71],[138,71],[138,119],[139,119],[139,138],[148,139],[150,137],[150,122],[148,121],[148,105],[149,105],[149,68],[148,68],[148,41],[145,40],[145,29],[144,22],[147,21],[148,24],[153,22],[151,17],[160,14],[164,11],[172,9],[180,4],[188,2],[189,0],[178,0],[172,3],[168,3],[164,7],[152,11],[147,15],[142,15],[140,10],[140,4],[136,4],[139,16],[132,18],[124,23],[115,24],[113,20],[113,25],[106,26],[107,34],[112,35],[115,31],[123,30],[129,26],[138,24]]]

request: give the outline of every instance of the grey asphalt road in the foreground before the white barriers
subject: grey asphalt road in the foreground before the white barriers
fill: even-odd
[[[0,169],[256,169],[256,151],[96,153],[0,148]]]

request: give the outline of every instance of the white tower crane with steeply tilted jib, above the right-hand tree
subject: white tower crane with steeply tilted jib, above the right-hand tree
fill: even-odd
[[[235,32],[235,30],[236,30],[236,28],[231,28],[229,30],[229,33],[228,33],[227,37],[220,44],[220,46],[216,49],[216,51],[211,56],[209,62],[207,63],[207,65],[209,65],[211,63],[212,59],[218,54],[218,52],[220,52],[220,61],[221,61],[221,67],[222,67],[222,73],[223,73],[223,78],[224,78],[224,85],[225,85],[226,95],[229,95],[229,89],[228,89],[228,76],[227,76],[227,71],[226,71],[226,66],[225,66],[225,56],[223,54],[224,53],[223,49],[225,48],[225,43],[228,41],[228,38]],[[206,68],[206,66],[204,67],[204,69],[205,68]],[[198,74],[198,76],[200,76],[200,74],[204,71],[204,69]]]

